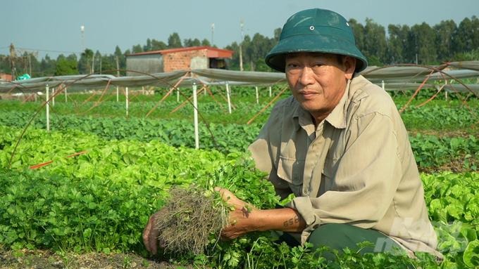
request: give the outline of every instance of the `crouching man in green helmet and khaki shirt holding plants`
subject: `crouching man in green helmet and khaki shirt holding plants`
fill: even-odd
[[[276,103],[249,150],[277,194],[295,198],[285,208],[244,215],[245,203],[217,188],[237,208],[222,239],[275,230],[340,252],[369,241],[375,247],[363,252],[398,247],[441,259],[408,134],[390,96],[357,74],[368,63],[347,20],[318,8],[300,11],[265,60],[285,72],[292,97]],[[143,234],[151,253],[153,219]]]

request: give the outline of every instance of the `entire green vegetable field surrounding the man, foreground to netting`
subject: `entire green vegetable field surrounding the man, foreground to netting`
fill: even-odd
[[[426,254],[411,260],[351,251],[326,265],[308,249],[275,244],[265,234],[218,242],[214,249],[212,240],[205,254],[150,257],[141,232],[148,217],[165,204],[170,188],[194,183],[208,190],[218,185],[260,209],[280,202],[271,185],[261,181],[263,174],[251,170],[254,164],[245,153],[270,112],[269,107],[247,124],[270,100],[266,91],[260,104],[254,104],[256,99],[247,93],[238,93],[232,114],[225,112],[224,100],[221,108],[209,96],[202,98],[199,111],[208,126],[199,126],[199,150],[194,149],[191,105],[170,114],[182,100],[168,97],[144,117],[161,99],[158,96],[133,99],[125,117],[125,99],[96,106],[92,98],[82,105],[87,96],[72,95],[76,103],[57,100],[53,110],[58,117],[50,110],[51,131],[46,131],[39,102],[0,100],[0,184],[4,186],[0,245],[1,256],[6,257],[0,267],[26,268],[41,262],[42,268],[479,266],[478,103],[468,101],[472,112],[454,99],[416,107],[428,96],[413,100],[402,118],[422,172],[428,213],[440,239],[438,249],[446,261],[437,264]],[[407,100],[395,99],[398,110]],[[85,153],[65,158],[79,152]]]

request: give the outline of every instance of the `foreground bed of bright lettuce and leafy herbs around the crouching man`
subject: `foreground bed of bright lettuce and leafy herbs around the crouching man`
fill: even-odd
[[[8,165],[19,129],[0,126],[0,169]],[[64,159],[80,150],[87,153]],[[232,188],[254,206],[278,202],[263,173],[251,171],[246,155],[168,147],[153,140],[101,140],[80,131],[29,130],[13,158],[13,170],[0,173],[0,244],[11,249],[46,247],[56,251],[135,251],[146,256],[141,232],[148,216],[164,203],[166,189],[195,182],[201,188]],[[16,170],[53,160],[39,172]],[[428,213],[446,256],[442,268],[475,268],[478,263],[479,174],[421,175]],[[247,188],[247,187],[251,188]],[[251,193],[250,193],[251,192]],[[278,245],[263,234],[213,244],[203,256],[176,256],[212,268],[324,268],[307,249]],[[166,254],[165,254],[166,255]],[[430,256],[359,256],[351,251],[333,267],[360,263],[365,268],[410,264],[436,268]],[[352,260],[353,259],[353,260]],[[349,261],[349,263],[348,263]]]

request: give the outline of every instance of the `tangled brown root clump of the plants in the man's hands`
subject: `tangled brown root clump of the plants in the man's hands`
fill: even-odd
[[[170,190],[166,212],[158,216],[155,227],[160,232],[158,238],[166,242],[166,251],[198,255],[204,253],[209,242],[218,240],[228,225],[229,211],[223,199],[216,196],[194,186]]]

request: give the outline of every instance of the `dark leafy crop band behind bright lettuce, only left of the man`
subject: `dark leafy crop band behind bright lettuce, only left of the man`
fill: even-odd
[[[24,128],[32,119],[32,112],[2,111],[0,110],[0,125]],[[75,129],[92,133],[106,140],[139,140],[149,142],[158,140],[161,143],[175,147],[194,147],[194,125],[187,119],[143,119],[121,117],[76,117],[73,115],[59,115],[51,117],[51,130]],[[39,115],[32,123],[36,129],[46,129],[46,118]],[[213,137],[211,133],[213,133]],[[201,149],[215,150],[218,145],[220,152],[229,153],[244,151],[259,133],[259,124],[206,124],[199,126],[199,145]],[[215,144],[216,141],[216,144]]]

